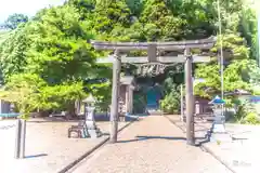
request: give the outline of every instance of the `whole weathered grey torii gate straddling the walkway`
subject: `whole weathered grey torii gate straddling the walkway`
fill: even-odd
[[[185,63],[185,99],[186,99],[186,142],[188,145],[195,145],[194,139],[194,95],[192,79],[192,63],[209,62],[209,56],[193,56],[191,49],[209,50],[216,43],[216,37],[209,37],[202,40],[172,41],[172,42],[105,42],[91,41],[95,50],[114,51],[113,56],[98,59],[98,63],[113,63],[113,90],[110,108],[110,143],[117,142],[118,131],[118,99],[121,63],[135,63],[156,66],[157,70],[164,71],[164,64]],[[147,51],[147,56],[126,57],[121,53],[129,51]],[[178,56],[157,56],[157,51],[183,51],[184,55]]]

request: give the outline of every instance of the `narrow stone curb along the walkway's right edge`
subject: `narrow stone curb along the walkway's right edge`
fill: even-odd
[[[167,115],[164,115],[166,119],[168,119],[172,124],[174,124],[178,129],[180,129],[183,133],[186,133],[180,125],[178,125],[176,122],[173,122]],[[199,145],[199,148],[211,155],[214,159],[217,159],[221,164],[223,164],[227,170],[230,170],[232,173],[236,173],[234,169],[232,169],[229,163],[226,163],[223,159],[221,159],[219,156],[217,156],[209,147],[206,146],[206,144]]]

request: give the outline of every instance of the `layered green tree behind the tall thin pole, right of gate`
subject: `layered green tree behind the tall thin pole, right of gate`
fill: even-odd
[[[244,38],[238,34],[226,34],[222,37],[223,57],[224,57],[224,90],[233,92],[235,89],[247,89],[245,78],[240,68],[247,66],[250,55],[250,49],[247,46]],[[198,83],[195,93],[200,96],[213,96],[220,94],[220,41],[211,49],[212,62],[210,64],[197,65],[195,69],[196,78],[204,78],[206,82]],[[207,90],[206,90],[207,89]]]

